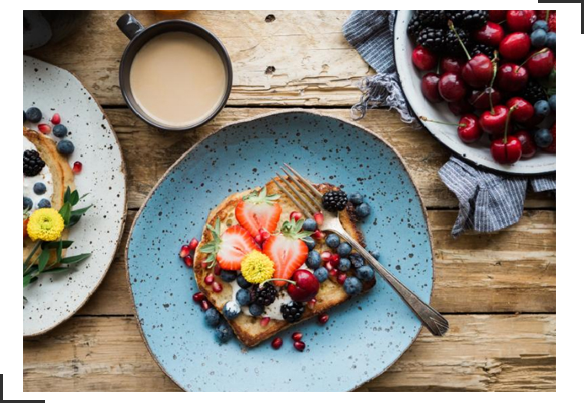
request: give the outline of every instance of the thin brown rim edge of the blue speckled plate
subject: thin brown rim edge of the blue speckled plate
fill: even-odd
[[[412,181],[413,188],[416,191],[417,199],[418,199],[418,201],[420,203],[420,208],[422,209],[424,221],[426,223],[426,232],[428,233],[428,238],[430,239],[430,255],[431,255],[431,262],[430,263],[431,263],[431,267],[432,267],[432,287],[430,288],[429,303],[432,302],[432,295],[434,293],[434,285],[436,283],[436,270],[435,270],[435,264],[434,264],[435,263],[434,262],[434,260],[435,260],[434,259],[434,238],[432,236],[432,231],[430,230],[430,222],[428,220],[428,210],[426,209],[426,206],[424,204],[424,200],[422,199],[422,196],[420,195],[420,191],[419,191],[418,187],[416,186],[416,183],[414,182],[414,179],[413,179],[413,177],[411,175],[411,172],[407,168],[403,157],[389,143],[389,141],[385,140],[383,137],[381,137],[377,133],[373,132],[372,130],[370,130],[370,129],[366,128],[366,127],[363,127],[362,125],[360,125],[358,123],[355,123],[353,121],[349,121],[349,120],[347,120],[345,118],[340,118],[340,117],[336,117],[336,116],[330,116],[330,115],[327,115],[326,113],[322,113],[322,112],[316,112],[316,111],[306,110],[306,109],[303,109],[303,108],[290,108],[290,109],[286,109],[286,110],[283,110],[283,111],[278,111],[278,110],[276,110],[276,111],[270,111],[270,112],[266,112],[266,113],[260,113],[259,115],[256,115],[256,116],[253,116],[253,117],[249,117],[249,118],[245,118],[245,119],[241,119],[241,120],[237,120],[237,121],[228,123],[228,124],[226,124],[224,126],[219,127],[217,130],[209,133],[208,135],[201,137],[199,140],[197,140],[191,147],[189,147],[189,149],[187,151],[185,151],[180,157],[178,157],[178,159],[175,162],[172,163],[172,165],[164,172],[164,174],[160,177],[160,179],[156,182],[156,184],[152,187],[152,189],[150,189],[150,192],[148,193],[148,195],[146,196],[146,199],[144,200],[144,202],[140,206],[140,209],[136,213],[136,216],[134,217],[134,221],[132,222],[132,225],[130,226],[130,231],[128,233],[128,240],[126,241],[126,248],[125,248],[125,252],[124,252],[124,265],[125,265],[125,268],[126,268],[126,282],[127,282],[126,285],[128,287],[128,291],[130,293],[130,298],[132,299],[132,310],[134,311],[134,318],[135,318],[135,320],[137,322],[136,324],[138,325],[137,327],[138,327],[138,330],[140,332],[140,336],[142,337],[142,340],[144,341],[144,345],[146,346],[146,349],[150,353],[150,356],[154,359],[154,362],[156,362],[156,364],[162,370],[162,372],[176,386],[178,386],[184,392],[190,392],[190,390],[186,389],[183,385],[181,385],[178,381],[176,381],[172,375],[170,375],[166,371],[166,368],[158,360],[157,355],[154,354],[154,352],[150,348],[150,344],[148,343],[148,339],[144,335],[144,332],[143,332],[143,329],[142,329],[142,325],[140,324],[140,316],[138,315],[138,310],[136,309],[136,301],[134,299],[134,292],[132,291],[132,282],[131,282],[131,279],[130,279],[130,268],[129,268],[129,265],[128,265],[128,252],[130,250],[130,242],[132,241],[132,236],[134,234],[134,228],[136,226],[136,223],[138,222],[138,220],[142,216],[142,213],[144,212],[144,209],[146,208],[148,202],[150,201],[150,199],[154,195],[154,192],[158,189],[158,187],[160,186],[160,184],[174,170],[174,168],[177,165],[179,165],[204,140],[206,140],[207,138],[209,138],[211,136],[214,136],[217,133],[219,133],[220,131],[222,131],[224,129],[227,129],[229,127],[232,127],[232,126],[236,126],[236,125],[243,124],[243,123],[249,123],[249,122],[252,122],[254,120],[264,119],[264,118],[270,117],[270,116],[284,115],[284,114],[292,114],[292,113],[301,113],[301,114],[313,115],[313,116],[317,116],[317,117],[326,117],[326,118],[338,120],[340,122],[343,122],[345,124],[349,124],[351,126],[358,127],[359,129],[364,130],[366,133],[372,135],[374,138],[376,138],[376,139],[380,140],[381,142],[383,142],[398,157],[398,160],[399,160],[400,164],[402,165],[402,167],[405,170],[405,172],[408,174],[410,180]],[[403,303],[405,303],[405,302],[403,302]],[[391,363],[389,363],[380,372],[375,373],[374,375],[372,375],[371,377],[369,377],[366,381],[363,381],[363,382],[355,385],[353,388],[351,388],[349,390],[346,390],[345,389],[344,391],[352,392],[352,391],[360,388],[365,383],[370,382],[373,379],[375,379],[375,378],[379,377],[380,375],[384,374],[385,372],[387,372],[387,370],[389,368],[391,368],[413,346],[413,344],[416,342],[416,340],[420,336],[420,333],[421,333],[423,327],[424,326],[420,322],[420,328],[418,329],[417,333],[415,334],[414,337],[412,337],[412,339],[409,342],[408,346],[395,358],[395,360],[393,360]]]

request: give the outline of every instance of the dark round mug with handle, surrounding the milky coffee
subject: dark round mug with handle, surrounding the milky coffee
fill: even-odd
[[[227,99],[229,98],[229,94],[231,93],[231,85],[233,82],[233,69],[231,67],[231,59],[229,58],[227,49],[225,49],[225,46],[223,46],[221,41],[215,35],[207,31],[200,25],[184,20],[167,20],[151,25],[148,28],[144,28],[144,26],[140,24],[140,22],[132,14],[129,13],[122,15],[118,19],[117,25],[120,28],[120,30],[128,37],[128,39],[130,39],[130,43],[126,47],[126,50],[124,50],[124,54],[122,55],[122,60],[120,62],[120,89],[122,91],[122,95],[124,96],[126,104],[140,119],[142,119],[149,125],[157,127],[162,130],[184,131],[191,130],[196,127],[204,125],[205,123],[213,119],[215,116],[217,116],[217,114],[223,109],[223,107],[225,107]],[[148,41],[150,41],[154,37],[168,32],[187,32],[202,38],[211,46],[213,46],[213,48],[221,57],[223,65],[225,66],[227,85],[225,87],[225,93],[223,94],[221,102],[209,116],[187,127],[166,126],[150,117],[140,107],[138,102],[136,102],[136,99],[132,94],[132,87],[130,86],[130,70],[132,68],[132,62],[134,61],[134,57],[136,56],[138,51],[142,49],[142,46],[144,46]]]

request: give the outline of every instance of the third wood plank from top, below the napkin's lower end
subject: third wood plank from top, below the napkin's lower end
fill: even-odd
[[[131,211],[122,245],[136,215]],[[436,274],[433,305],[442,312],[555,312],[555,212],[530,211],[496,234],[452,239],[454,211],[430,211]],[[179,245],[177,245],[177,248]],[[87,315],[131,315],[123,250],[82,309]],[[178,251],[178,249],[177,249]],[[169,270],[187,270],[177,264]]]

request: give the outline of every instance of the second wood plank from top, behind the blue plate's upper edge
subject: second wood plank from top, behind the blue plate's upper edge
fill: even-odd
[[[140,207],[168,167],[199,139],[233,122],[274,111],[277,109],[227,108],[204,127],[175,134],[149,127],[128,109],[107,109],[106,113],[118,134],[126,160],[128,206]],[[316,112],[350,120],[348,109],[321,109]],[[448,161],[450,153],[429,132],[425,129],[412,130],[400,121],[396,113],[382,110],[369,112],[359,124],[383,136],[400,153],[426,207],[458,207],[456,197],[438,177],[438,170]],[[148,157],[148,164],[144,163],[145,156]],[[549,194],[528,193],[526,207],[554,206],[555,200]]]

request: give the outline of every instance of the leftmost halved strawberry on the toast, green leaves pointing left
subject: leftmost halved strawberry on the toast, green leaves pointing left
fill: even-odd
[[[252,236],[245,228],[234,225],[221,234],[221,221],[217,219],[215,228],[207,225],[213,234],[213,240],[201,246],[201,252],[208,253],[205,262],[208,267],[214,267],[219,263],[223,270],[241,269],[241,261],[252,250],[260,250]]]

